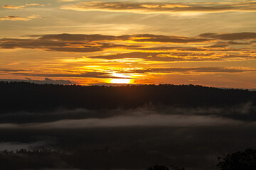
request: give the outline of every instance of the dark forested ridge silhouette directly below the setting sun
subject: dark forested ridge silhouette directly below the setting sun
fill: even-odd
[[[225,107],[256,103],[256,92],[194,85],[79,86],[0,81],[1,111],[57,108],[113,109],[139,106]]]

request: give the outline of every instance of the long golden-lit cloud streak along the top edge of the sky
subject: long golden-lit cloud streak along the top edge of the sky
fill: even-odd
[[[88,1],[63,5],[60,8],[75,11],[111,11],[133,13],[220,13],[228,11],[256,11],[255,1],[208,3],[137,3]]]

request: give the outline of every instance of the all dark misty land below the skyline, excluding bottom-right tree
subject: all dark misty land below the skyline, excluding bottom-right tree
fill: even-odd
[[[215,170],[256,147],[255,91],[2,81],[0,94],[0,169]]]

